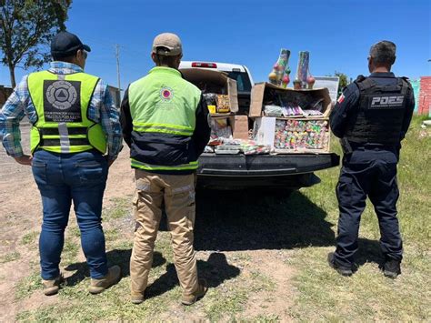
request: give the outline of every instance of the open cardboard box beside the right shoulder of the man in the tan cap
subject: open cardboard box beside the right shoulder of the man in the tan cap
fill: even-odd
[[[211,115],[226,116],[238,111],[236,80],[226,73],[203,68],[185,68],[181,73],[201,89]]]

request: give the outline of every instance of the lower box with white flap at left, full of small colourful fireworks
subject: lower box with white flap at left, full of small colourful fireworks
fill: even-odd
[[[253,137],[258,144],[271,146],[271,150],[280,154],[328,153],[330,148],[328,123],[328,118],[262,116],[255,119]],[[281,126],[282,124],[285,125]],[[317,131],[319,127],[321,131]],[[283,137],[282,140],[280,136]],[[313,141],[314,138],[319,138],[320,144]]]

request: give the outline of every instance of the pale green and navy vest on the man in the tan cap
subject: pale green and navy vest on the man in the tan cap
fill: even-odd
[[[190,172],[198,167],[192,140],[201,91],[169,67],[155,67],[128,89],[133,122],[132,167]]]

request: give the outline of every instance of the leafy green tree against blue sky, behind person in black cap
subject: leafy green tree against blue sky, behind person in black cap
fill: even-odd
[[[49,60],[49,43],[65,30],[72,0],[0,0],[0,56],[15,87],[15,67],[27,69]]]

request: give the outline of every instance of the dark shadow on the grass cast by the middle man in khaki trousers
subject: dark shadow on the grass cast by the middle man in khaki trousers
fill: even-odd
[[[197,260],[197,272],[199,278],[205,278],[208,287],[216,288],[225,280],[235,278],[239,275],[239,268],[229,265],[223,253],[212,253],[208,260]],[[166,266],[166,272],[155,279],[153,284],[145,290],[145,298],[155,298],[179,284],[174,264]]]

